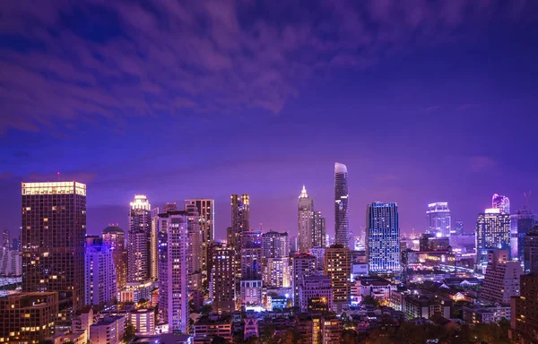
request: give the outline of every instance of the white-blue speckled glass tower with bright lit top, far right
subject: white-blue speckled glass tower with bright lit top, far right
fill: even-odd
[[[499,208],[486,209],[476,219],[477,265],[485,265],[489,250],[510,250],[510,215]]]

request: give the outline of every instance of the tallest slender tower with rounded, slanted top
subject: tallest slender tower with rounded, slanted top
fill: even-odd
[[[350,246],[347,182],[347,167],[336,162],[334,164],[334,242],[336,245],[343,245],[344,247]]]

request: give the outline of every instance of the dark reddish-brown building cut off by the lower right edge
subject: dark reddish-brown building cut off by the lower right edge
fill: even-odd
[[[520,296],[510,300],[511,329],[508,336],[513,343],[538,342],[538,275],[521,276]]]

